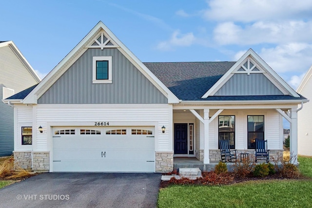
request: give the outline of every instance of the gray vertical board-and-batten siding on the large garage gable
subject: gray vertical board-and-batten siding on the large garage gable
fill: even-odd
[[[93,57],[112,57],[112,83],[92,83]],[[38,100],[39,104],[168,103],[117,48],[88,49]]]

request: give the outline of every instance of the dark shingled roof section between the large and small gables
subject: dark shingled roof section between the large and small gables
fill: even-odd
[[[143,64],[179,99],[198,100],[235,62],[166,62]]]

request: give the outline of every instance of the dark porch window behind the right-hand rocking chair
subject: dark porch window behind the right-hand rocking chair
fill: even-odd
[[[248,149],[255,149],[255,140],[264,140],[264,115],[248,115]]]

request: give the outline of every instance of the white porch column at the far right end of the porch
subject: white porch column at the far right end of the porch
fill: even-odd
[[[294,164],[298,163],[298,119],[297,119],[297,108],[291,109],[291,129],[290,129],[290,153],[295,156],[292,161]]]

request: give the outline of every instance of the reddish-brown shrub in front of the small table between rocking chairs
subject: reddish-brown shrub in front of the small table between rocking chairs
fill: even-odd
[[[254,155],[244,158],[242,161],[236,160],[233,165],[233,174],[236,178],[245,178],[254,171]]]

